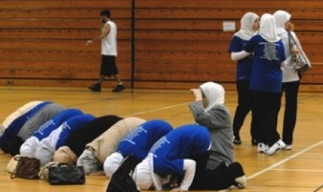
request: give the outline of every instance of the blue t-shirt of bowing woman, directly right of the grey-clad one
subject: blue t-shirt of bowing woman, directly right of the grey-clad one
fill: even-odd
[[[41,125],[40,128],[33,133],[33,136],[38,138],[39,141],[42,141],[43,138],[47,138],[49,134],[51,134],[51,131],[58,128],[63,122],[69,118],[81,114],[83,114],[83,112],[78,109],[65,109],[64,111],[61,111],[55,115],[51,120],[48,120]]]

